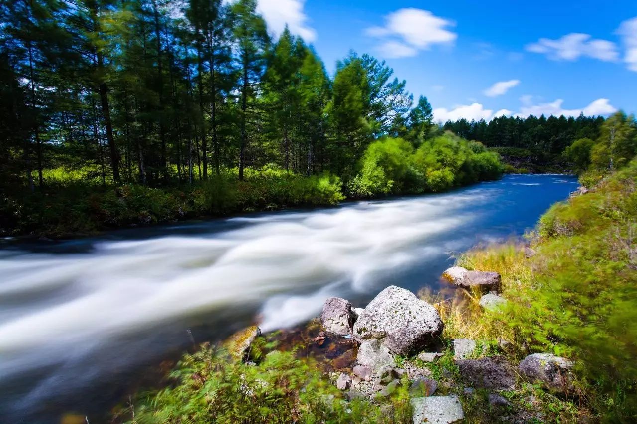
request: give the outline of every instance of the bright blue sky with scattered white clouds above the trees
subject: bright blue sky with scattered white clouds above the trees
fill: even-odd
[[[259,0],[332,73],[350,50],[384,59],[438,120],[637,112],[637,1]]]

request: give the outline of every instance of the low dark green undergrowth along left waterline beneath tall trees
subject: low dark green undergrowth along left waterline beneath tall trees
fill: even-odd
[[[345,197],[337,176],[311,177],[276,167],[238,169],[194,185],[152,188],[138,184],[87,185],[57,181],[50,192],[21,197],[6,195],[0,204],[2,227],[49,236],[89,234],[109,227],[168,222],[192,216],[227,215],[288,206],[330,206]]]

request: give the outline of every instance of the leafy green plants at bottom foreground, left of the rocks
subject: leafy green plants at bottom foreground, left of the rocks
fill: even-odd
[[[253,350],[259,350],[254,346]],[[346,401],[317,364],[295,352],[271,351],[259,364],[231,362],[208,346],[185,355],[174,385],[142,396],[131,423],[411,423],[404,388],[380,404]],[[129,412],[129,411],[125,411]]]

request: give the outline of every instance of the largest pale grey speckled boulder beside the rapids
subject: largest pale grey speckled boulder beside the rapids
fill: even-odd
[[[390,351],[406,355],[427,346],[442,330],[433,306],[404,288],[389,286],[362,311],[354,324],[354,339],[382,339]]]

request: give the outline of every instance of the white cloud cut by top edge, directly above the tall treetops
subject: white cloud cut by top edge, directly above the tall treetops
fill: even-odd
[[[292,34],[311,43],[317,38],[316,31],[308,26],[308,17],[303,11],[304,0],[259,0],[257,11],[268,24],[268,29],[280,36],[288,25]]]

